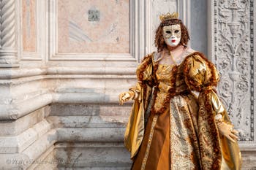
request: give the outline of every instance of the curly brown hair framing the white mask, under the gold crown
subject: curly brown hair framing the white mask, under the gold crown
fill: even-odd
[[[184,47],[187,47],[187,42],[189,41],[189,32],[187,31],[186,26],[182,23],[181,20],[178,19],[172,19],[172,20],[163,20],[162,23],[157,28],[156,36],[154,39],[154,45],[157,47],[157,51],[162,51],[164,48],[167,48],[167,45],[165,44],[164,36],[162,35],[162,28],[164,26],[171,26],[179,24],[181,26],[181,42],[178,45],[183,45]]]

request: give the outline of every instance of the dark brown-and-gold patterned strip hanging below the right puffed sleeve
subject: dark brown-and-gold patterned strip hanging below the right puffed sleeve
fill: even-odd
[[[211,90],[200,93],[199,101],[199,141],[203,169],[220,169],[222,152],[219,141],[219,131],[215,123],[215,114],[211,105]]]

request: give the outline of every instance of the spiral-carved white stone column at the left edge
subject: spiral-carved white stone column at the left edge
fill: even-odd
[[[18,66],[15,3],[0,1],[0,67]]]

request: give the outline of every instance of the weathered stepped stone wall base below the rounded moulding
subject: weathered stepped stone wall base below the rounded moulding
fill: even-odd
[[[123,143],[130,107],[50,104],[18,120],[2,120],[0,169],[130,169]],[[256,149],[241,151],[242,169],[256,169]]]

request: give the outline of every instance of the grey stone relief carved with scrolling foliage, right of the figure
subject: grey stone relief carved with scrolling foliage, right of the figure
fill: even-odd
[[[214,58],[219,96],[241,141],[254,140],[253,1],[214,1]]]

